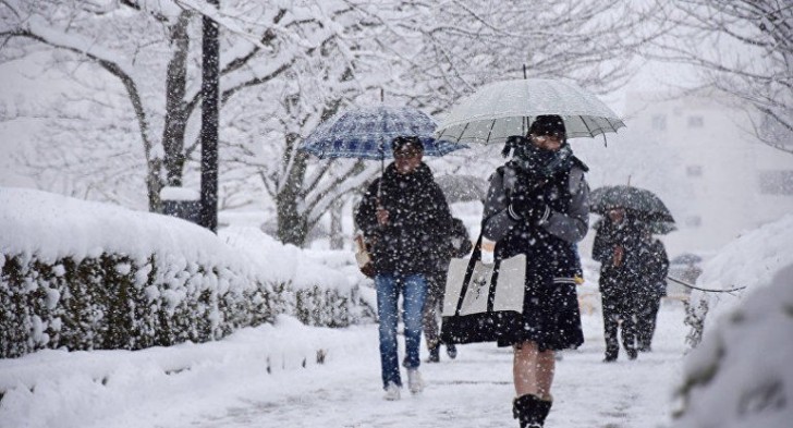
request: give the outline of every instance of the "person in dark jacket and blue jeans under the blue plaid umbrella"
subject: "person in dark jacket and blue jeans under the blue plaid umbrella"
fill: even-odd
[[[380,363],[387,400],[398,400],[402,379],[396,352],[398,299],[402,295],[407,384],[418,393],[422,309],[426,278],[438,265],[452,224],[446,197],[423,161],[418,137],[396,137],[394,161],[368,187],[355,223],[371,245],[379,318]]]

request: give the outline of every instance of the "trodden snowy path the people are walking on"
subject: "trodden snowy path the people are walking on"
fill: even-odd
[[[683,309],[667,305],[659,317],[656,351],[629,362],[601,362],[599,314],[585,317],[587,343],[568,352],[558,364],[558,398],[550,427],[642,428],[668,426],[671,382],[682,354]],[[381,399],[377,332],[352,362],[295,372],[280,396],[249,398],[220,417],[192,420],[180,427],[516,427],[511,416],[512,355],[493,344],[460,346],[455,360],[423,364],[426,390],[399,402]],[[265,395],[265,394],[263,394]],[[266,394],[270,395],[270,394]]]

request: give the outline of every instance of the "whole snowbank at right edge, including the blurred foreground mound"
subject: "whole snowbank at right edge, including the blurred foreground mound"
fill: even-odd
[[[685,360],[678,427],[783,427],[793,419],[793,216],[725,246],[692,293],[704,334]],[[707,310],[709,308],[709,310]]]

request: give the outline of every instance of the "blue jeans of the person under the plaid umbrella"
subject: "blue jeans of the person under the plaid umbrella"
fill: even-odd
[[[402,294],[402,321],[405,325],[406,368],[420,364],[418,347],[422,343],[422,307],[427,292],[423,274],[378,273],[375,277],[377,289],[377,316],[380,318],[380,367],[382,388],[389,382],[402,387],[399,357],[396,355],[396,302]]]

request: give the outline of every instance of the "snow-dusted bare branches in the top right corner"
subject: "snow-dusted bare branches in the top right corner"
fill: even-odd
[[[657,1],[656,20],[668,33],[648,54],[693,65],[704,85],[760,113],[754,123],[760,140],[793,154],[793,3]]]

